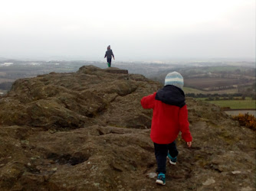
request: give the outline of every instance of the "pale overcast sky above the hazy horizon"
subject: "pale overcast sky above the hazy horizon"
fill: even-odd
[[[255,0],[3,0],[0,57],[255,58]]]

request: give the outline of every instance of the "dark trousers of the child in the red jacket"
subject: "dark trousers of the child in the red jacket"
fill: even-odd
[[[157,173],[166,173],[166,157],[169,151],[169,154],[172,157],[177,157],[179,151],[176,147],[176,141],[173,141],[170,144],[156,144],[154,143],[155,147],[155,156],[156,156],[156,163],[157,163]]]

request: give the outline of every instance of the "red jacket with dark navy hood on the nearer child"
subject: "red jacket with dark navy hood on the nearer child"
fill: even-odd
[[[143,97],[140,102],[143,108],[153,108],[150,138],[154,143],[170,144],[176,140],[179,131],[182,131],[182,139],[192,141],[182,89],[164,86],[158,92]]]

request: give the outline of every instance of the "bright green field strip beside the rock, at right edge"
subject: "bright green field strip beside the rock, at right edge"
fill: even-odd
[[[245,99],[245,100],[215,100],[215,101],[204,101],[205,99],[198,99],[202,100],[203,102],[210,102],[215,105],[219,105],[220,107],[230,107],[232,109],[243,109],[243,108],[250,108],[256,109],[255,107],[255,100]]]

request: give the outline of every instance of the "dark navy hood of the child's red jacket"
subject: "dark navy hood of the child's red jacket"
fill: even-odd
[[[176,86],[167,85],[156,92],[156,100],[182,108],[185,105],[185,94]]]

